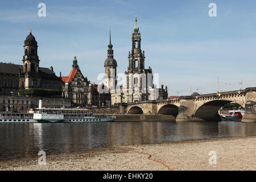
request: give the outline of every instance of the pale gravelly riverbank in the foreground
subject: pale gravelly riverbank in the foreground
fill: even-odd
[[[209,164],[216,151],[217,164]],[[149,160],[147,153],[151,155]],[[256,137],[186,140],[0,160],[0,170],[256,170]],[[156,161],[157,160],[157,161]],[[164,166],[165,164],[165,166]]]

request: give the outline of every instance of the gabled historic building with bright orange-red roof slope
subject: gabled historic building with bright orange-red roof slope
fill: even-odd
[[[98,85],[91,84],[77,64],[76,56],[74,56],[71,72],[68,76],[61,77],[63,81],[62,96],[70,98],[72,107],[86,106],[102,106],[106,105],[106,101],[110,101],[110,94],[99,94]]]

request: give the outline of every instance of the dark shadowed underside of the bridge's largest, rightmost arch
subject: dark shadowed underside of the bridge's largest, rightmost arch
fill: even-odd
[[[220,121],[220,115],[218,115],[218,110],[229,102],[233,101],[214,100],[206,102],[195,111],[193,117],[200,118],[205,121]]]

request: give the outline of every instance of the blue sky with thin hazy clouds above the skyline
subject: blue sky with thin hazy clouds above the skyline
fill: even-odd
[[[38,16],[45,3],[46,16]],[[209,4],[217,16],[210,17]],[[137,14],[145,68],[159,73],[169,96],[216,93],[256,84],[256,1],[74,0],[1,1],[0,62],[23,64],[31,28],[40,67],[67,76],[77,56],[84,76],[96,84],[112,31],[117,73],[127,71]]]

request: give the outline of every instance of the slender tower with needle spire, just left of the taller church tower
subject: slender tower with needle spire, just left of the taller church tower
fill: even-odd
[[[117,61],[114,59],[114,50],[111,43],[111,32],[109,27],[109,45],[108,45],[108,58],[105,60],[105,85],[108,87],[108,90],[114,91],[115,86],[117,85]]]

